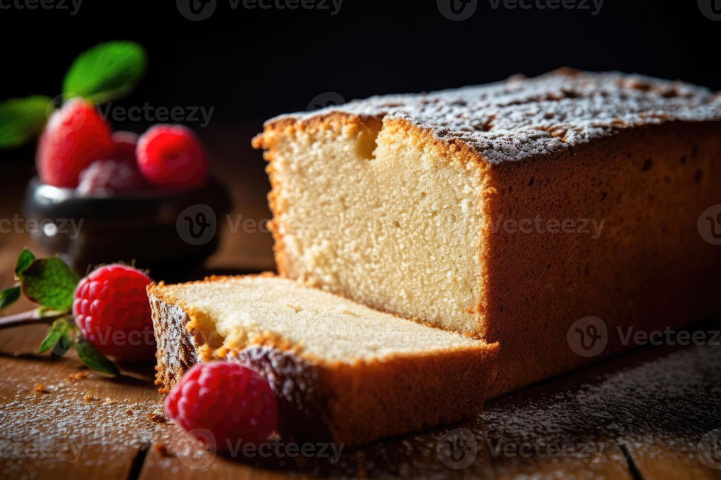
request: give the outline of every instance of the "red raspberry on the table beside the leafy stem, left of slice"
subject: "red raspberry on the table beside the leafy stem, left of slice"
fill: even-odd
[[[145,273],[120,263],[92,271],[75,289],[73,314],[87,341],[118,360],[154,358],[155,338]]]

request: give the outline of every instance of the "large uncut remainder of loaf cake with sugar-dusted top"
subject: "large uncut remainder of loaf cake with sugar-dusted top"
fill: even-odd
[[[278,271],[500,343],[494,394],[562,373],[717,311],[696,222],[721,204],[720,112],[699,86],[564,68],[270,119]],[[596,357],[567,340],[589,316]]]

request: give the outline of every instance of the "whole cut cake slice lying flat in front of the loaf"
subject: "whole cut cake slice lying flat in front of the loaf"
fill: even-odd
[[[151,285],[157,381],[242,361],[278,396],[284,438],[365,443],[479,411],[498,345],[273,275]]]

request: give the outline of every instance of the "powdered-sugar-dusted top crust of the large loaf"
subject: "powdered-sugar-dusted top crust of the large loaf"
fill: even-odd
[[[441,140],[460,140],[492,162],[552,153],[629,127],[721,119],[721,95],[681,81],[562,68],[428,94],[373,96],[268,120],[330,112],[407,119]]]

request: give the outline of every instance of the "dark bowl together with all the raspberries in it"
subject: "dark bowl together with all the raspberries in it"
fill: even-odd
[[[92,104],[73,99],[50,116],[35,160],[25,196],[26,216],[38,225],[31,235],[78,273],[136,261],[172,277],[218,247],[230,196],[187,127],[112,132]]]

